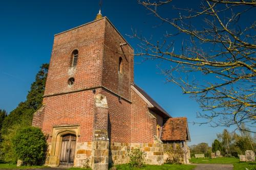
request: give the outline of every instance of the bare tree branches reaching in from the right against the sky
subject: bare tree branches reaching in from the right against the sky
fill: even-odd
[[[245,123],[255,128],[256,1],[193,1],[198,3],[197,9],[178,8],[175,2],[138,1],[175,32],[166,30],[164,40],[154,42],[134,31],[131,37],[140,40],[137,55],[170,62],[163,73],[168,82],[199,102],[203,112],[198,117],[206,118],[201,124],[236,125],[246,130],[241,129]],[[161,12],[165,7],[176,15]],[[250,15],[253,12],[254,16]],[[244,17],[250,17],[251,22],[244,22]],[[177,37],[183,37],[178,49]]]

